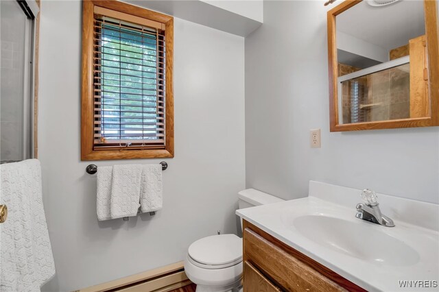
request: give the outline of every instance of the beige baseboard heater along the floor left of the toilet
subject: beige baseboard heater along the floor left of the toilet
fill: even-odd
[[[168,292],[189,284],[183,262],[178,262],[75,292]]]

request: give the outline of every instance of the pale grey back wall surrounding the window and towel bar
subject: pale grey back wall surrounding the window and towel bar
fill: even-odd
[[[57,275],[71,291],[182,260],[202,236],[236,232],[244,188],[244,38],[175,19],[176,157],[163,210],[98,222],[96,178],[80,161],[81,2],[43,1],[39,158]],[[101,165],[161,160],[98,161]]]

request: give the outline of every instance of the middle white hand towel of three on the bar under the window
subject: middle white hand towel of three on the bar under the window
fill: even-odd
[[[112,167],[110,200],[112,219],[137,216],[137,210],[140,206],[141,171],[141,165],[115,165]]]

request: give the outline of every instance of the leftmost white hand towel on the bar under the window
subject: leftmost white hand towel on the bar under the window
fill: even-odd
[[[99,167],[96,196],[96,212],[99,221],[112,219],[110,213],[111,184],[112,167]]]

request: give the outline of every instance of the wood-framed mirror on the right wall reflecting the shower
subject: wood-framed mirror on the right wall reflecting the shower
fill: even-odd
[[[436,1],[328,12],[331,132],[439,125]]]

